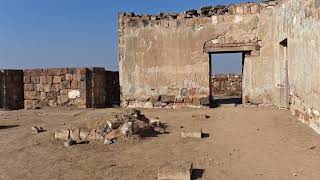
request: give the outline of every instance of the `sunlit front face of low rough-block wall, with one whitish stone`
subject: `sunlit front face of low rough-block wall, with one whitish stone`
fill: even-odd
[[[86,75],[86,68],[24,70],[24,107],[87,107]]]

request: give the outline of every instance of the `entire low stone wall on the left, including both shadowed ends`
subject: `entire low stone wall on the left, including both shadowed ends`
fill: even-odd
[[[101,108],[119,103],[118,72],[104,68],[1,71],[0,108]]]

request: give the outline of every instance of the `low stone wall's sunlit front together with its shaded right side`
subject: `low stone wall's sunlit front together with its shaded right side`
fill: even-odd
[[[107,96],[106,89],[115,87],[106,87],[107,81],[104,68],[27,69],[24,70],[24,107],[109,106],[113,97]]]

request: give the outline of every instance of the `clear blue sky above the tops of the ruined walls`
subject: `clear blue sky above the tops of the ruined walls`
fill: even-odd
[[[0,69],[118,70],[117,13],[182,12],[245,0],[0,0]]]

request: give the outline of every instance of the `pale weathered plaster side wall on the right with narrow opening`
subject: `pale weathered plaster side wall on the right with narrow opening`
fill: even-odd
[[[275,19],[275,46],[288,39],[290,108],[320,133],[320,1],[286,0],[275,9]],[[275,84],[281,84],[284,64],[277,50]]]

